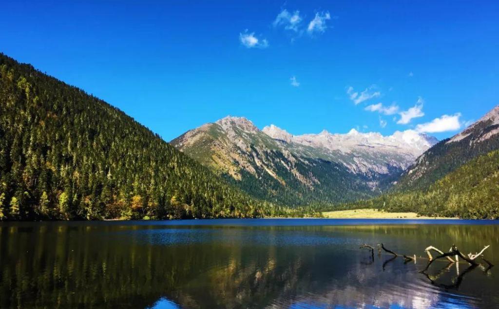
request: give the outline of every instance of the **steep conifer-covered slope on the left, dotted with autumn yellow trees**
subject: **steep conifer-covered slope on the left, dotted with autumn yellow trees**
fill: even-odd
[[[303,215],[250,198],[119,109],[0,54],[0,220]]]

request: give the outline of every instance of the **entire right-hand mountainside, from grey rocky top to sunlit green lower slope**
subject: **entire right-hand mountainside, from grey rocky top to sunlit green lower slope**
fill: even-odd
[[[340,207],[498,219],[499,106],[428,149],[385,194]]]

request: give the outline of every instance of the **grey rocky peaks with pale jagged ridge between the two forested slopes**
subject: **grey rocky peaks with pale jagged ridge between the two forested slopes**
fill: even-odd
[[[171,144],[254,197],[301,205],[377,195],[436,142],[415,131],[293,136],[228,116]]]

